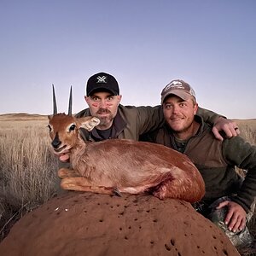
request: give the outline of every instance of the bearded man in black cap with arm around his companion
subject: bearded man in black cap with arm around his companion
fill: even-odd
[[[108,73],[96,73],[88,79],[86,86],[85,101],[89,108],[79,112],[76,117],[87,115],[96,116],[101,120],[90,133],[84,131],[84,139],[101,141],[108,138],[125,138],[138,140],[143,133],[153,131],[164,122],[160,106],[156,107],[125,107],[120,104],[122,96],[119,95],[119,84],[117,80]],[[199,110],[203,117],[214,124],[219,115]],[[219,118],[216,123],[215,134],[220,138],[218,130],[224,130],[227,136],[236,136],[235,123],[228,119]]]

